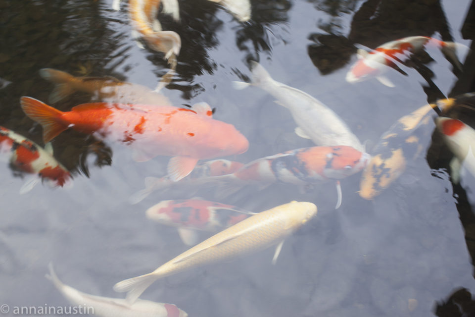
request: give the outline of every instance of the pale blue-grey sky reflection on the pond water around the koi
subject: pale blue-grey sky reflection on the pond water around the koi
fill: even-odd
[[[452,35],[460,38],[461,8],[469,1],[444,1]],[[229,159],[247,162],[290,149],[311,146],[293,133],[289,112],[255,87],[232,88],[237,68],[249,74],[244,53],[235,45],[238,22],[224,10],[216,11],[224,27],[217,33],[220,45],[209,51],[218,65],[213,75],[195,76],[204,92],[190,101],[177,90],[164,93],[175,105],[205,101],[216,107],[215,118],[233,123],[248,137],[249,151]],[[303,90],[340,115],[362,142],[374,145],[380,135],[402,115],[426,104],[421,76],[389,71],[396,85],[391,89],[376,80],[358,85],[344,80],[350,64],[321,76],[307,55],[308,35],[319,31],[325,14],[306,1],[294,1],[285,25],[272,26],[272,52],[261,53],[260,62],[273,78]],[[106,16],[125,20],[124,12]],[[127,24],[117,25],[127,31]],[[349,25],[346,21],[345,25]],[[269,33],[270,30],[268,30]],[[284,38],[286,43],[278,40]],[[132,40],[131,38],[128,40]],[[461,41],[468,44],[467,41]],[[448,62],[431,50],[429,64],[435,82],[447,93],[455,77]],[[148,51],[133,46],[124,65],[130,82],[154,88],[156,69]],[[356,56],[352,57],[352,61]],[[117,69],[119,71],[121,69]],[[433,128],[433,127],[431,127]],[[429,140],[427,140],[427,145]],[[71,189],[37,186],[19,196],[22,181],[1,166],[0,299],[10,305],[66,305],[44,278],[52,261],[66,284],[101,296],[120,297],[112,285],[124,278],[147,273],[186,250],[176,230],[145,218],[145,210],[160,200],[191,198],[190,191],[155,192],[138,205],[129,196],[143,188],[143,178],[165,173],[168,158],[136,163],[126,147],[111,145],[112,166],[90,164],[91,178],[78,175]],[[237,262],[207,266],[155,282],[144,299],[170,302],[190,316],[411,316],[409,299],[418,306],[412,316],[431,316],[436,300],[464,286],[472,293],[473,267],[467,253],[459,214],[447,179],[434,178],[425,159],[408,164],[405,174],[374,202],[362,200],[359,176],[342,182],[343,205],[332,184],[314,192],[279,185],[257,191],[240,191],[214,197],[213,190],[198,194],[247,210],[260,211],[295,200],[309,200],[319,214],[284,244],[277,265],[270,264],[273,250]],[[475,187],[472,187],[475,188]],[[1,303],[0,303],[1,304]]]

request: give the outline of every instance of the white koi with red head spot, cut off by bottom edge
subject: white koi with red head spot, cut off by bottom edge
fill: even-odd
[[[188,314],[173,304],[156,303],[138,299],[130,304],[122,298],[110,298],[86,294],[71,286],[63,284],[53,270],[53,265],[48,265],[51,280],[58,291],[72,304],[84,308],[84,313],[102,317],[119,316],[150,316],[150,317],[187,317]]]

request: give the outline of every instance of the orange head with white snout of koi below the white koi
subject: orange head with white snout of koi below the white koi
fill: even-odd
[[[327,178],[341,179],[365,168],[371,156],[349,146],[331,147],[326,155],[323,174]]]

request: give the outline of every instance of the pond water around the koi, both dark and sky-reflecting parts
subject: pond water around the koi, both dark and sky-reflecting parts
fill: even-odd
[[[0,0],[0,125],[44,146],[41,125],[19,102],[30,96],[48,103],[54,86],[39,75],[42,68],[154,89],[168,64],[146,43],[138,47],[125,2],[115,11],[109,0]],[[181,22],[159,14],[163,29],[182,39],[176,74],[161,93],[174,106],[208,103],[214,118],[247,137],[247,152],[223,159],[247,163],[314,146],[294,133],[290,112],[275,98],[256,87],[233,87],[249,80],[251,60],[332,108],[370,154],[400,117],[475,91],[470,0],[251,0],[248,22],[211,1],[179,3]],[[376,79],[345,80],[358,48],[408,36],[472,51],[458,50],[459,70],[427,48],[399,71],[387,71],[394,88]],[[50,105],[68,111],[93,101],[76,92]],[[475,127],[474,99],[459,101],[446,115]],[[173,187],[131,205],[145,177],[166,174],[169,157],[136,162],[123,145],[68,129],[52,147],[71,171],[72,186],[38,184],[20,195],[29,176],[10,168],[8,158],[0,162],[0,306],[69,305],[45,278],[50,262],[71,287],[123,298],[112,290],[116,282],[188,249],[175,228],[147,219],[147,208],[200,197],[248,211],[308,201],[319,211],[285,240],[276,265],[271,248],[160,279],[141,298],[208,317],[475,316],[475,178],[466,173],[460,183],[451,181],[453,154],[435,130],[435,111],[429,116],[419,129],[423,151],[408,159],[401,176],[373,200],[358,194],[361,172],[343,179],[337,210],[333,182],[306,191],[288,184],[244,187],[229,196],[214,187]]]

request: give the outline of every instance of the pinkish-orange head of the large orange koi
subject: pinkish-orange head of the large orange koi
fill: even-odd
[[[207,133],[196,138],[201,159],[212,159],[219,156],[242,154],[249,148],[249,141],[234,125],[213,120]]]

